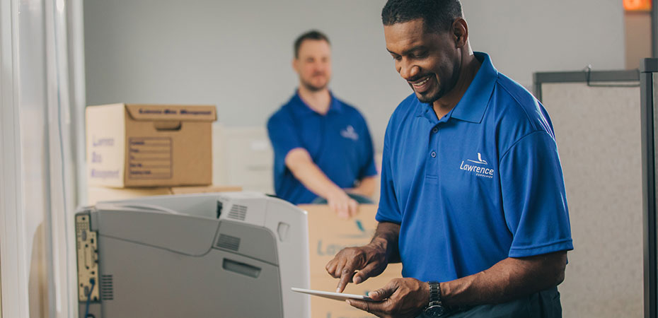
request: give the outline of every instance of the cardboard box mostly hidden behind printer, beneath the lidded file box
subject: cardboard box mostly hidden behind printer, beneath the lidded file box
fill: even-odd
[[[192,194],[209,192],[238,192],[242,187],[209,186],[209,187],[157,187],[157,188],[106,188],[88,187],[88,205],[99,201],[116,201],[138,198],[140,196],[163,196],[168,194]]]

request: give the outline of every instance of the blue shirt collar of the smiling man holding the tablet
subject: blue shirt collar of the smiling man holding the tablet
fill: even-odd
[[[482,119],[489,104],[491,92],[498,78],[498,71],[493,66],[488,54],[483,52],[474,52],[475,58],[480,61],[480,69],[475,74],[473,81],[466,89],[457,105],[446,115],[446,119],[452,117],[461,119],[466,122],[482,122]],[[422,103],[419,107],[417,116],[424,116],[432,110],[432,105]],[[436,116],[434,116],[436,117]]]

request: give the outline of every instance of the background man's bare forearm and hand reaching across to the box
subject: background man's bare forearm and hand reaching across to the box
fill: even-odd
[[[347,196],[345,190],[333,183],[318,165],[313,163],[306,149],[294,148],[287,153],[284,160],[292,175],[311,192],[327,199],[328,205],[338,216],[349,218],[357,213],[357,201]]]

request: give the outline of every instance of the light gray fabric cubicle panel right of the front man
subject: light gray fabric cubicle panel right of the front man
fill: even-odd
[[[564,317],[642,317],[640,88],[614,73],[605,83],[536,85],[555,128],[575,247],[559,287]]]

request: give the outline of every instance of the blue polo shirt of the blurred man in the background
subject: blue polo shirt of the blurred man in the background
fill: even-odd
[[[373,147],[365,119],[354,107],[331,96],[327,114],[318,114],[295,94],[267,121],[275,152],[275,192],[292,204],[308,204],[318,196],[286,167],[285,158],[294,148],[311,154],[327,177],[341,188],[377,174]]]

